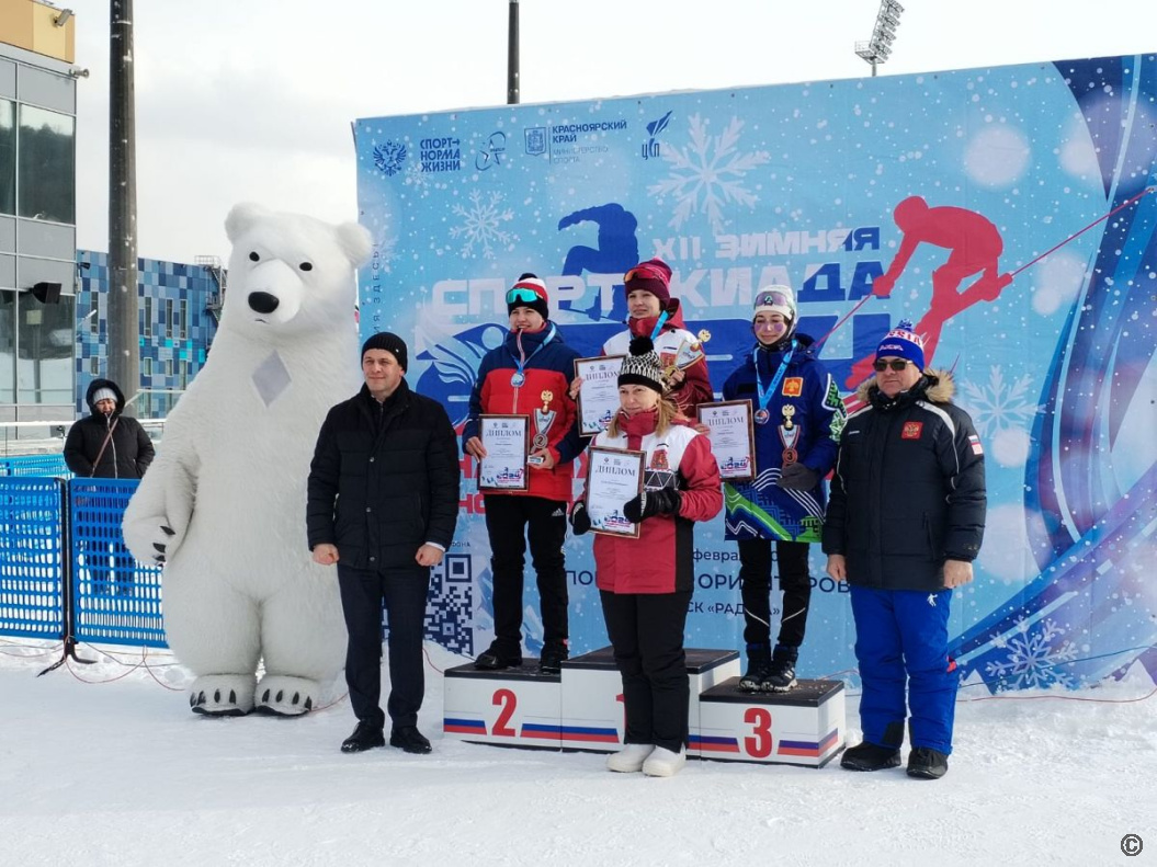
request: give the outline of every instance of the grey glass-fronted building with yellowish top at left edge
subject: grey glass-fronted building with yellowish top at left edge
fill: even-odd
[[[60,12],[0,6],[0,421],[74,413],[76,79]]]

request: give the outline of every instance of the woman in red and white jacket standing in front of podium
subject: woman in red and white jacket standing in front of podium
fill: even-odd
[[[625,747],[606,766],[653,777],[670,777],[686,762],[691,687],[683,633],[694,590],[692,528],[723,506],[710,443],[678,420],[663,397],[662,372],[650,340],[636,339],[619,373],[619,413],[592,443],[647,455],[643,492],[622,507],[640,525],[639,538],[599,534],[595,566],[627,718]],[[585,491],[570,524],[576,535],[591,528]]]

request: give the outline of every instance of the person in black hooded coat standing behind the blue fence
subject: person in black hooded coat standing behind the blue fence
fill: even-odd
[[[84,394],[91,415],[81,418],[68,430],[65,439],[65,464],[78,476],[86,479],[140,479],[153,462],[153,440],[135,418],[121,415],[125,395],[111,379],[94,379]],[[82,510],[83,512],[83,510]],[[82,517],[86,517],[82,514]],[[91,592],[104,595],[113,587],[109,583],[109,562],[116,592],[132,592],[135,563],[116,529],[116,541],[108,538],[91,539],[82,535],[101,520],[96,516],[82,520],[78,527],[76,547],[84,556],[84,566],[91,580]],[[103,517],[103,516],[102,516]]]

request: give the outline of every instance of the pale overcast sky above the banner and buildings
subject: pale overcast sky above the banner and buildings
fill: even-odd
[[[108,249],[108,0],[76,13],[78,245]],[[1157,0],[901,0],[882,75],[1157,51]],[[522,0],[522,102],[870,75],[877,0]],[[135,0],[138,250],[238,201],[356,218],[356,118],[506,102],[508,0]]]

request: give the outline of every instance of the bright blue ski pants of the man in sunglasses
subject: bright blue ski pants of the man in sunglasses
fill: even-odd
[[[959,676],[948,654],[951,590],[934,593],[852,585],[856,659],[863,695],[864,741],[904,743],[909,719],[913,747],[952,751],[952,718]],[[907,691],[907,705],[905,705]]]

